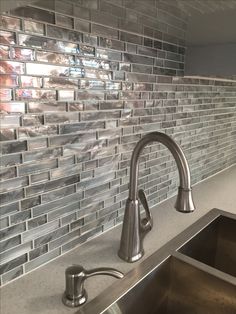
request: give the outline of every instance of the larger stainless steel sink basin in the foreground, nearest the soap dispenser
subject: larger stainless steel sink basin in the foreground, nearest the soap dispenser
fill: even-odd
[[[236,286],[170,257],[106,314],[235,314]]]

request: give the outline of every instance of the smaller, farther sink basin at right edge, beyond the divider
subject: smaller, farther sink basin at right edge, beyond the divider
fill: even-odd
[[[236,220],[219,216],[179,251],[236,277]]]

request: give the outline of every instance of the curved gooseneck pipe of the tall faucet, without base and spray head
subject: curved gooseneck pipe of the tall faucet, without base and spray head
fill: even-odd
[[[152,132],[145,135],[134,148],[130,165],[129,198],[131,200],[137,199],[139,156],[144,147],[152,142],[159,142],[170,150],[178,167],[180,187],[186,191],[191,190],[190,171],[187,160],[180,146],[177,143],[175,143],[170,136],[160,132]]]

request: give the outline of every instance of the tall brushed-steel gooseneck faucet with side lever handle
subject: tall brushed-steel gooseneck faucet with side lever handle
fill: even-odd
[[[138,161],[143,148],[152,142],[160,142],[172,153],[179,171],[179,189],[175,203],[177,211],[190,213],[195,206],[192,199],[190,171],[188,162],[181,147],[168,135],[152,132],[145,135],[135,146],[130,165],[129,196],[126,201],[123,229],[118,255],[121,259],[132,263],[139,260],[143,254],[143,238],[152,229],[152,216],[148,208],[143,190],[138,191]],[[142,203],[146,218],[140,218],[139,201]]]

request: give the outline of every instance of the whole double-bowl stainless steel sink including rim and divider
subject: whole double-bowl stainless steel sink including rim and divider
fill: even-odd
[[[235,314],[235,226],[213,209],[77,313]]]

